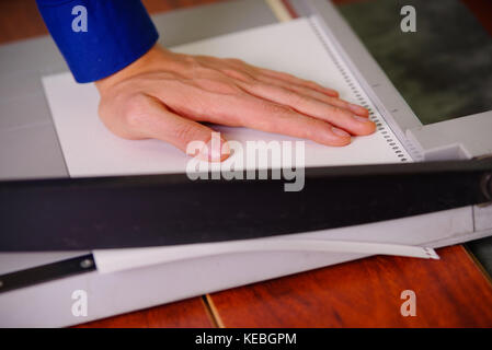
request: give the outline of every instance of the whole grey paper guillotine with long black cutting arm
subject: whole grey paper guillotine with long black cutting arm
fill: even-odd
[[[173,46],[273,24],[278,21],[274,2],[230,1],[153,21],[165,33],[165,45]],[[0,47],[5,58],[0,132],[9,130],[0,139],[0,149],[9,150],[0,153],[0,326],[73,325],[370,255],[232,249],[100,273],[92,249],[277,237],[439,247],[492,234],[492,206],[487,205],[492,200],[492,161],[487,158],[492,153],[492,110],[423,125],[330,2],[288,3],[298,15],[322,23],[319,28],[336,44],[415,163],[307,168],[308,186],[297,195],[283,192],[274,180],[203,182],[191,188],[184,174],[69,178],[39,83],[42,75],[66,71],[65,62],[49,37],[5,45]],[[347,199],[344,191],[351,188],[355,198]],[[226,196],[213,196],[217,191],[242,198],[243,215],[236,215]],[[173,196],[213,199],[208,212],[183,223],[180,211],[188,203],[179,207]],[[337,205],[329,207],[323,196]],[[134,206],[128,209],[129,197]],[[94,198],[98,207],[91,205]],[[149,215],[156,207],[169,210]],[[357,212],[361,207],[367,210]],[[112,208],[104,215],[119,226],[91,231],[100,208]],[[233,220],[210,220],[218,208]],[[129,217],[141,220],[138,235],[122,220]],[[79,230],[64,231],[75,226]],[[165,234],[156,234],[162,228]],[[88,317],[71,314],[75,290],[88,292]]]

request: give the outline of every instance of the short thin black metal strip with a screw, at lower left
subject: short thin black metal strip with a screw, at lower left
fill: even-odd
[[[39,284],[96,269],[92,254],[0,275],[0,293]]]

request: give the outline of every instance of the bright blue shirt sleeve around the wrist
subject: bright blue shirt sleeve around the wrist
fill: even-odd
[[[36,1],[79,83],[100,80],[125,68],[146,54],[159,37],[140,0]]]

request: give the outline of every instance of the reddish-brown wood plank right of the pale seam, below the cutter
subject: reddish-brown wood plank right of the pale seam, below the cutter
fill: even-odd
[[[492,327],[492,285],[462,246],[376,256],[208,296],[221,327]],[[416,296],[403,317],[401,292]]]

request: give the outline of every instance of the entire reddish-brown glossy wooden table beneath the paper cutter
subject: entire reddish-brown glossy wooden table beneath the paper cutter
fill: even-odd
[[[144,3],[155,13],[217,1],[226,0]],[[492,33],[492,3],[465,2]],[[43,34],[34,0],[0,2],[0,43]],[[438,254],[440,260],[370,257],[79,327],[492,327],[488,275],[461,245]],[[415,317],[400,314],[403,290],[416,293]]]

